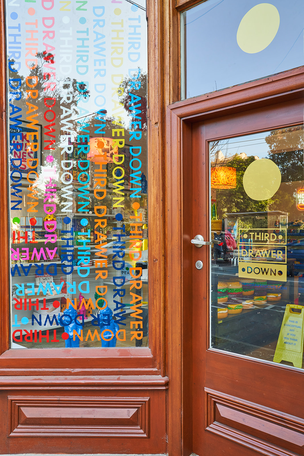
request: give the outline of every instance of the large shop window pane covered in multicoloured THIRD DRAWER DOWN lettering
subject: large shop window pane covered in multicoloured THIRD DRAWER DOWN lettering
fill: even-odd
[[[11,348],[148,345],[145,2],[6,1]]]

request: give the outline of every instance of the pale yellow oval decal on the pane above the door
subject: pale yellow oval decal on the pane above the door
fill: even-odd
[[[280,15],[270,3],[253,6],[242,18],[237,29],[237,44],[242,51],[255,54],[263,51],[276,36]]]

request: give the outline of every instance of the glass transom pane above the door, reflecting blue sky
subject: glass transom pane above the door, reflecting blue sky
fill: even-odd
[[[304,65],[302,0],[207,0],[181,15],[182,99]]]

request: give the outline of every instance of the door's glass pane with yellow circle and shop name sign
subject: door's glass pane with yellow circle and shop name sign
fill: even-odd
[[[209,143],[211,347],[303,364],[303,125]]]

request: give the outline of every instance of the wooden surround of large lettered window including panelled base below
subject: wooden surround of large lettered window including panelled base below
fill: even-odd
[[[9,244],[8,244],[8,217],[7,217],[7,181],[0,180],[1,208],[3,217],[0,218],[1,242],[5,245],[0,262],[0,306],[1,306],[1,338],[0,338],[0,454],[16,454],[19,451],[33,451],[35,454],[55,454],[60,452],[98,453],[101,448],[104,452],[114,454],[151,454],[165,453],[166,451],[166,395],[168,377],[165,366],[165,172],[164,172],[164,109],[165,103],[170,104],[178,99],[178,84],[172,84],[168,72],[163,72],[158,62],[172,62],[172,53],[169,52],[164,42],[167,27],[163,26],[163,7],[171,8],[175,14],[175,25],[178,14],[173,2],[148,1],[148,52],[149,52],[149,118],[148,118],[148,166],[149,166],[149,347],[146,348],[112,348],[108,349],[79,349],[76,351],[66,349],[56,350],[8,350],[10,343],[9,327],[10,316],[7,305],[10,295],[10,269],[9,269]],[[0,47],[5,55],[5,14],[4,0],[0,1],[1,33]],[[170,22],[165,14],[164,20]],[[178,37],[170,31],[175,44]],[[178,49],[178,46],[175,46]],[[164,57],[164,53],[166,56]],[[175,52],[174,65],[170,64],[171,71],[179,78],[178,51]],[[174,67],[174,68],[173,68]],[[177,72],[177,73],[176,73]],[[7,145],[6,145],[6,116],[5,101],[5,59],[0,64],[0,170],[2,176],[7,174]],[[168,89],[170,87],[170,89]],[[165,89],[164,89],[165,88]],[[67,400],[67,396],[75,397],[73,407],[51,407],[47,409],[46,402],[50,396],[57,396],[60,400]],[[12,422],[3,417],[8,416],[8,396],[18,396],[21,405],[10,408],[10,413],[18,415],[18,424],[10,433],[16,435],[22,426],[27,426],[26,437],[8,437],[8,427]],[[28,405],[30,396],[40,398]],[[120,408],[113,409],[112,418],[105,418],[109,408],[105,410],[102,404],[93,408],[95,435],[81,436],[74,432],[69,436],[64,435],[58,428],[61,415],[66,416],[66,426],[72,426],[75,420],[82,420],[82,412],[88,414],[86,398],[106,401],[104,397],[119,398]],[[103,399],[100,399],[100,398]],[[131,399],[130,399],[131,398]],[[148,399],[142,399],[148,398]],[[27,405],[22,403],[24,401]],[[128,403],[131,401],[131,404]],[[140,402],[141,401],[141,402]],[[13,400],[10,401],[11,404]],[[115,402],[115,401],[114,401]],[[77,406],[76,404],[80,404]],[[132,405],[133,404],[133,405]],[[71,404],[70,404],[71,405]],[[15,409],[14,409],[15,407]],[[17,412],[16,412],[17,407]],[[73,408],[73,410],[72,410]],[[80,410],[82,409],[82,410]],[[101,411],[102,410],[102,411]],[[43,413],[47,411],[47,416]],[[75,413],[74,413],[75,412]],[[112,413],[111,412],[111,413]],[[115,413],[114,413],[115,412]],[[120,414],[117,416],[117,413]],[[36,414],[36,415],[35,415]],[[95,415],[94,415],[95,414]],[[59,417],[59,418],[58,418]],[[145,417],[145,420],[143,420]],[[19,421],[20,420],[20,421]],[[49,420],[44,426],[46,435],[37,436],[35,426],[41,427],[41,421]],[[52,421],[53,420],[53,421]],[[99,420],[99,421],[98,421]],[[110,423],[112,429],[108,436],[104,436],[105,421]],[[116,421],[115,421],[116,420]],[[136,421],[137,420],[137,421]],[[15,424],[17,423],[15,420]],[[96,421],[99,423],[96,425]],[[178,421],[178,419],[177,419]],[[13,424],[14,424],[13,422]],[[38,424],[37,424],[38,423]],[[77,424],[79,425],[79,423]],[[21,426],[21,427],[20,427]],[[54,426],[52,428],[52,426]],[[54,432],[57,426],[57,433]],[[85,424],[83,424],[85,426]],[[82,426],[82,428],[83,428]],[[95,427],[94,427],[95,426]],[[128,428],[129,426],[129,428]],[[13,428],[13,426],[12,426]],[[127,429],[128,428],[128,429]],[[73,428],[75,430],[75,428]],[[25,431],[25,429],[23,429]],[[67,429],[66,429],[67,430]],[[124,432],[127,430],[127,432]],[[86,435],[91,431],[83,429]],[[92,431],[93,432],[93,431]],[[128,435],[129,432],[129,435]],[[120,433],[120,434],[119,434]]]

